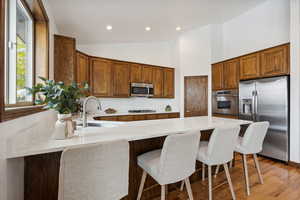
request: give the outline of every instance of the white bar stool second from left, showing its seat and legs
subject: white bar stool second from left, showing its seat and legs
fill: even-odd
[[[200,141],[200,131],[170,135],[162,149],[138,156],[138,165],[143,175],[137,200],[141,199],[147,174],[161,185],[161,199],[166,198],[166,186],[185,181],[189,199],[193,200],[189,177],[195,172],[196,156]]]

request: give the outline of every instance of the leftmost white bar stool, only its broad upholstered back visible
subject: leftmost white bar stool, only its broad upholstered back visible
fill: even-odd
[[[129,143],[119,140],[63,151],[58,200],[112,200],[128,194]]]

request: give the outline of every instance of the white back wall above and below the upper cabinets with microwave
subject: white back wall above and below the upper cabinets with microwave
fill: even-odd
[[[176,68],[175,99],[100,98],[103,109],[111,107],[120,113],[130,109],[164,111],[166,105],[171,105],[173,111],[179,111],[179,70],[177,69],[177,63],[173,60],[173,47],[172,42],[77,45],[78,50],[92,56]]]

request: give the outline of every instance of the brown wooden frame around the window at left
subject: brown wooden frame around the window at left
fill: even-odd
[[[7,32],[7,1],[0,0],[0,122],[12,120],[18,117],[31,115],[37,112],[44,111],[42,105],[36,105],[34,103],[35,99],[29,103],[19,103],[18,105],[8,104],[5,105],[5,68],[6,68],[6,32]],[[36,84],[37,77],[39,74],[36,72],[36,62],[39,59],[39,62],[42,62],[45,66],[43,69],[43,76],[49,78],[49,61],[50,61],[50,27],[49,27],[49,18],[46,12],[46,9],[43,5],[42,0],[33,0],[31,5],[28,4],[27,0],[20,0],[24,7],[28,9],[33,17],[33,85]],[[36,34],[36,26],[38,23],[43,24],[43,31],[45,34]],[[39,35],[39,36],[37,36]],[[44,37],[45,40],[43,43],[37,41],[37,37]],[[39,38],[40,39],[40,38]],[[43,58],[36,57],[36,49],[42,45],[43,48]]]

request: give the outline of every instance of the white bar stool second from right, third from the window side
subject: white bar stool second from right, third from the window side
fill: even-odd
[[[212,200],[212,178],[211,167],[214,165],[223,165],[226,173],[226,178],[229,184],[232,199],[235,200],[227,163],[233,159],[233,151],[236,145],[236,140],[240,127],[236,125],[227,125],[222,128],[215,128],[208,143],[201,143],[197,160],[208,165],[208,191],[209,200]],[[204,179],[204,167],[202,169],[202,179]]]

